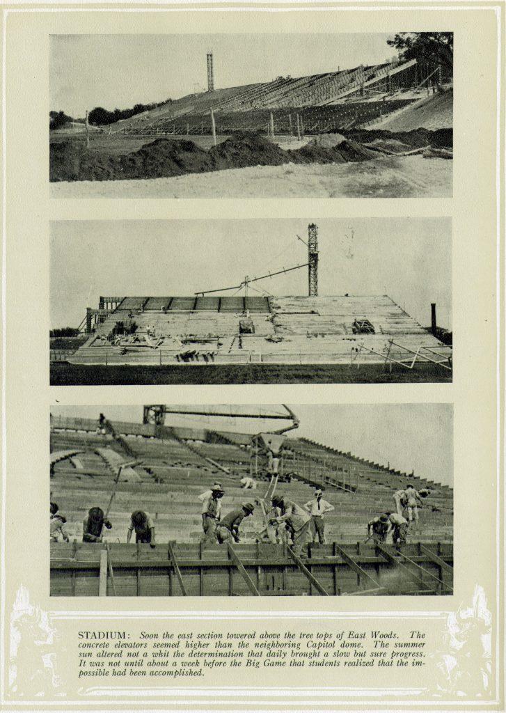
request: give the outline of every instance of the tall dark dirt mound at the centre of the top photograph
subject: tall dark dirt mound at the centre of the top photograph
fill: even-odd
[[[286,151],[264,136],[252,132],[234,134],[209,151],[215,170],[247,166],[279,166],[287,162]]]

